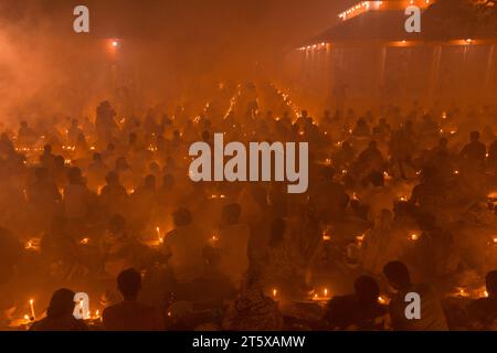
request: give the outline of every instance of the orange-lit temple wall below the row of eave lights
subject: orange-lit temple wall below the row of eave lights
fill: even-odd
[[[288,54],[282,79],[306,107],[434,101],[491,103],[497,98],[497,53],[491,42],[317,44]]]

